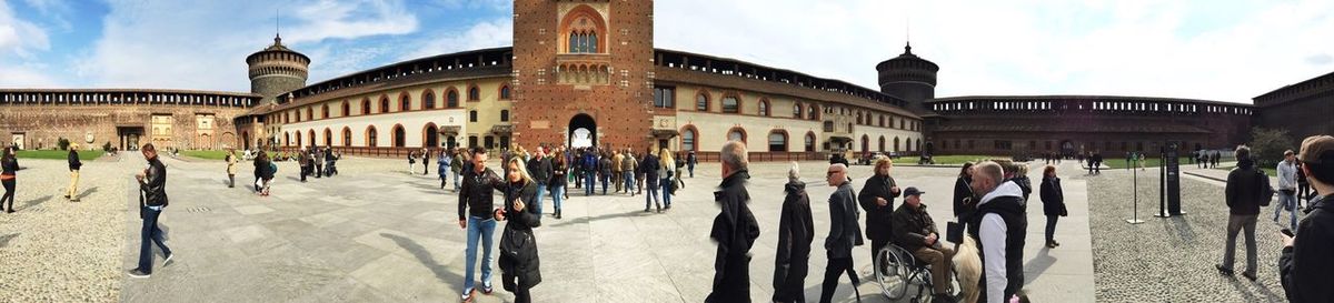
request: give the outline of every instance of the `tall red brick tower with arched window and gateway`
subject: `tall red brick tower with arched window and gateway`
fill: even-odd
[[[515,142],[648,146],[652,11],[651,0],[515,0]]]

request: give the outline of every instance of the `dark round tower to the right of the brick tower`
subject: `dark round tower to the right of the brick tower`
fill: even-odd
[[[923,101],[935,98],[935,73],[939,65],[912,54],[912,45],[903,47],[903,54],[875,65],[880,92],[903,98],[912,112],[923,113]]]

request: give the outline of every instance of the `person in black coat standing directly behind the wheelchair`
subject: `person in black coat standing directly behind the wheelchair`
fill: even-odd
[[[894,198],[899,197],[899,186],[890,177],[892,167],[890,158],[875,161],[875,174],[856,193],[858,203],[866,210],[866,238],[871,239],[871,260],[894,238],[890,217],[894,215]]]

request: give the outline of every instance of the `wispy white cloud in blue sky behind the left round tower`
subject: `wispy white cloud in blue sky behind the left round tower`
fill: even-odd
[[[79,76],[93,86],[248,92],[244,58],[272,44],[275,8],[299,8],[279,11],[283,44],[297,50],[327,40],[402,35],[418,23],[402,1],[113,0],[111,8],[103,37],[77,62]]]

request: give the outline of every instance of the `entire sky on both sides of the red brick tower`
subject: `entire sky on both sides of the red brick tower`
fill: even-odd
[[[530,0],[523,0],[530,1]],[[643,1],[643,0],[631,0]],[[1250,102],[1334,72],[1329,0],[656,0],[656,48],[876,89],[940,65],[936,97],[1118,94]],[[248,92],[244,58],[311,57],[308,84],[508,47],[512,0],[0,0],[0,88]]]

